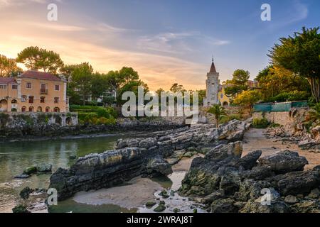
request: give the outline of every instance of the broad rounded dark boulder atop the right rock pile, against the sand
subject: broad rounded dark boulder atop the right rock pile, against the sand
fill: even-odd
[[[274,155],[260,157],[259,165],[271,167],[276,173],[286,173],[300,171],[304,169],[308,161],[305,157],[300,157],[298,153],[290,150],[282,150]]]

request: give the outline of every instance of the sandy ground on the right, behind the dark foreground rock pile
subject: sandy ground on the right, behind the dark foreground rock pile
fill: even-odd
[[[306,165],[305,170],[312,169],[316,165],[320,165],[320,154],[309,153],[306,150],[299,150],[298,146],[293,143],[283,143],[277,141],[277,139],[268,139],[263,135],[265,129],[251,128],[245,133],[243,153],[246,155],[255,150],[262,150],[262,156],[272,155],[279,152],[280,150],[288,149],[297,151],[299,155],[306,157],[309,165]]]

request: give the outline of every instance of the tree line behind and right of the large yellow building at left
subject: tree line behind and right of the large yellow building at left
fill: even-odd
[[[41,70],[57,76],[63,74],[63,79],[68,82],[70,104],[92,104],[87,100],[104,97],[102,104],[120,105],[124,92],[137,93],[139,86],[144,87],[145,92],[149,91],[147,84],[139,79],[138,72],[132,67],[122,67],[121,70],[107,73],[95,72],[89,62],[65,65],[58,53],[33,46],[19,52],[16,59],[0,55],[0,76],[14,77],[23,72],[17,63],[23,63],[28,70]],[[106,92],[114,95],[105,96]]]

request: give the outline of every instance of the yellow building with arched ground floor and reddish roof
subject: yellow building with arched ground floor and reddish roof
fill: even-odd
[[[0,77],[0,111],[68,112],[67,83],[53,74],[26,71]]]

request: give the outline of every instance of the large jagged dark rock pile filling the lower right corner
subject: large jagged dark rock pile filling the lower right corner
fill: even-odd
[[[260,150],[241,153],[236,142],[197,157],[179,194],[213,213],[320,212],[320,167],[302,171],[308,162],[289,150],[261,158]]]

